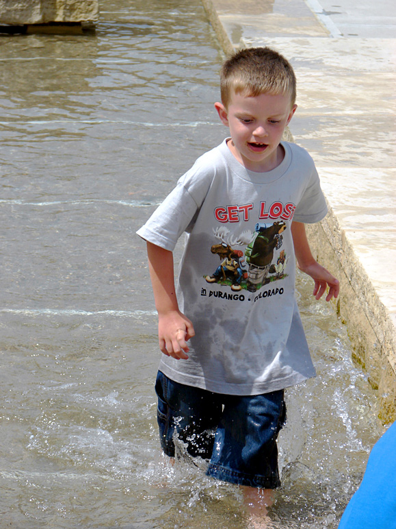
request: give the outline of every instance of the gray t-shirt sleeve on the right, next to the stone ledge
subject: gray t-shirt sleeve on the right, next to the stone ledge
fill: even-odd
[[[293,221],[307,224],[321,221],[328,212],[326,198],[321,190],[319,175],[312,159],[309,173],[307,185],[293,215]]]

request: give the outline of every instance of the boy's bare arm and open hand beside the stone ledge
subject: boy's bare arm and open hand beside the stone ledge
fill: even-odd
[[[334,278],[331,273],[322,267],[319,262],[315,261],[311,254],[311,249],[306,238],[305,225],[301,222],[291,223],[291,234],[293,236],[295,257],[297,258],[298,268],[303,272],[311,275],[315,281],[313,295],[319,299],[326,288],[329,287],[326,302],[330,302],[332,297],[337,297],[340,291],[339,280]]]

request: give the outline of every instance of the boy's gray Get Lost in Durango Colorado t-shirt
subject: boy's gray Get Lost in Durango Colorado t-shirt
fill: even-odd
[[[188,360],[163,355],[159,369],[215,393],[256,395],[315,376],[290,227],[320,221],[327,207],[304,149],[282,142],[281,164],[256,173],[227,140],[196,160],[137,234],[173,251],[185,232],[176,293],[196,336]]]

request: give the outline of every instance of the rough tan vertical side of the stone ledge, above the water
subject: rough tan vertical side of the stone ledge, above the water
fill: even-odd
[[[326,219],[306,225],[306,231],[313,256],[340,280],[336,310],[347,325],[352,358],[378,391],[378,416],[391,423],[396,420],[396,344],[393,329],[386,328],[391,319],[330,206]]]

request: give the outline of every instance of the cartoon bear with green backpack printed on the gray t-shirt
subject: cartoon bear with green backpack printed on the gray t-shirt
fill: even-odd
[[[286,230],[283,221],[276,221],[272,225],[256,224],[252,241],[246,248],[246,262],[249,264],[248,291],[255,292],[257,285],[262,284],[267,277],[271,262],[274,258],[274,249],[282,246],[282,232]]]

